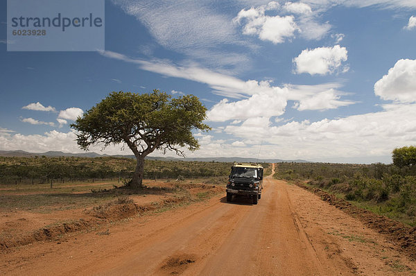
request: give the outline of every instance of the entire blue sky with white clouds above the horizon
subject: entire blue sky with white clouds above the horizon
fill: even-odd
[[[416,144],[416,1],[105,1],[95,52],[6,51],[6,1],[0,22],[0,150],[81,152],[73,119],[152,89],[208,108],[189,157],[390,163]]]

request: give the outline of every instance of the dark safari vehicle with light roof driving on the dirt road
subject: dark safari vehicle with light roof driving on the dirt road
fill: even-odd
[[[234,163],[227,184],[227,201],[233,196],[252,198],[253,204],[261,198],[263,166],[253,163]]]

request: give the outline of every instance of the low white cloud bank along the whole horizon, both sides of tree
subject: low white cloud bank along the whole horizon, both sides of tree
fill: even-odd
[[[259,156],[311,161],[325,161],[332,157],[354,157],[356,160],[358,157],[374,157],[374,162],[377,162],[375,157],[391,156],[394,148],[414,144],[415,110],[416,104],[391,104],[384,105],[381,112],[314,122],[290,121],[282,126],[273,126],[266,117],[252,117],[240,126],[218,128],[225,135],[234,135],[231,141],[215,139],[212,135],[198,135],[200,150],[187,153],[187,156]],[[64,133],[53,130],[44,135],[12,135],[10,132],[6,130],[6,134],[0,135],[1,150],[83,152],[76,144],[73,131]],[[109,147],[103,153],[131,154],[129,150],[121,152],[120,148],[121,145]],[[98,146],[91,150],[100,153]]]

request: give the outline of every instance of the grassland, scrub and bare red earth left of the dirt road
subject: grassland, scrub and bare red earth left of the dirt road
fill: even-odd
[[[148,159],[143,187],[131,189],[125,184],[135,164],[121,157],[0,157],[0,248],[207,200],[223,193],[232,165]]]

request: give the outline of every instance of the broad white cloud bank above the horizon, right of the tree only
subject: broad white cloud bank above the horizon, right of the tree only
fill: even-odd
[[[382,112],[321,121],[291,121],[272,126],[260,119],[225,132],[239,139],[263,143],[261,157],[325,159],[391,155],[394,148],[414,144],[416,105],[385,105]],[[254,148],[248,148],[257,155]],[[232,153],[229,153],[232,155]]]

